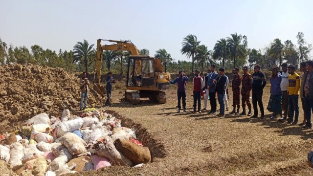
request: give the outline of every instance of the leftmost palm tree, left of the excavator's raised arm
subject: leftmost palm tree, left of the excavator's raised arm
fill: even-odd
[[[88,63],[95,57],[95,49],[92,49],[94,44],[89,45],[88,41],[77,42],[74,46],[74,59],[73,63],[82,62],[85,64],[86,74],[88,74]]]

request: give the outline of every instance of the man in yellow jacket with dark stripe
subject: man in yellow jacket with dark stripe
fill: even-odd
[[[289,112],[290,112],[290,118],[288,120],[288,123],[291,123],[293,125],[296,125],[298,123],[299,118],[299,89],[300,89],[300,76],[294,72],[295,67],[293,65],[288,66],[288,102],[289,102]],[[293,114],[294,115],[294,121],[293,121]]]

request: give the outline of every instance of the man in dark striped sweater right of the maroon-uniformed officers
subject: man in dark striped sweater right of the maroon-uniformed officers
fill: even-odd
[[[254,66],[254,73],[252,74],[252,104],[254,115],[251,118],[258,118],[258,107],[259,104],[261,111],[261,119],[264,118],[264,108],[262,102],[263,88],[266,85],[266,79],[264,73],[260,71],[261,66],[256,64]]]

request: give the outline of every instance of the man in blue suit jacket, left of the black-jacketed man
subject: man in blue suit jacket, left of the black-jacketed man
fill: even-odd
[[[213,80],[217,79],[219,77],[219,74],[215,71],[215,65],[211,65],[211,74],[209,77],[209,81],[207,82],[207,89],[209,90],[209,97],[210,97],[210,105],[211,110],[208,112],[209,114],[215,114],[216,113],[216,98],[215,98],[215,89],[216,84],[213,82]]]

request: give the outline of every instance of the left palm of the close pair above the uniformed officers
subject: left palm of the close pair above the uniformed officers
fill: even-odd
[[[230,48],[227,44],[226,39],[220,39],[219,41],[217,41],[217,43],[214,45],[213,50],[213,58],[222,59],[224,67],[225,61],[227,61],[228,56],[230,55]]]

